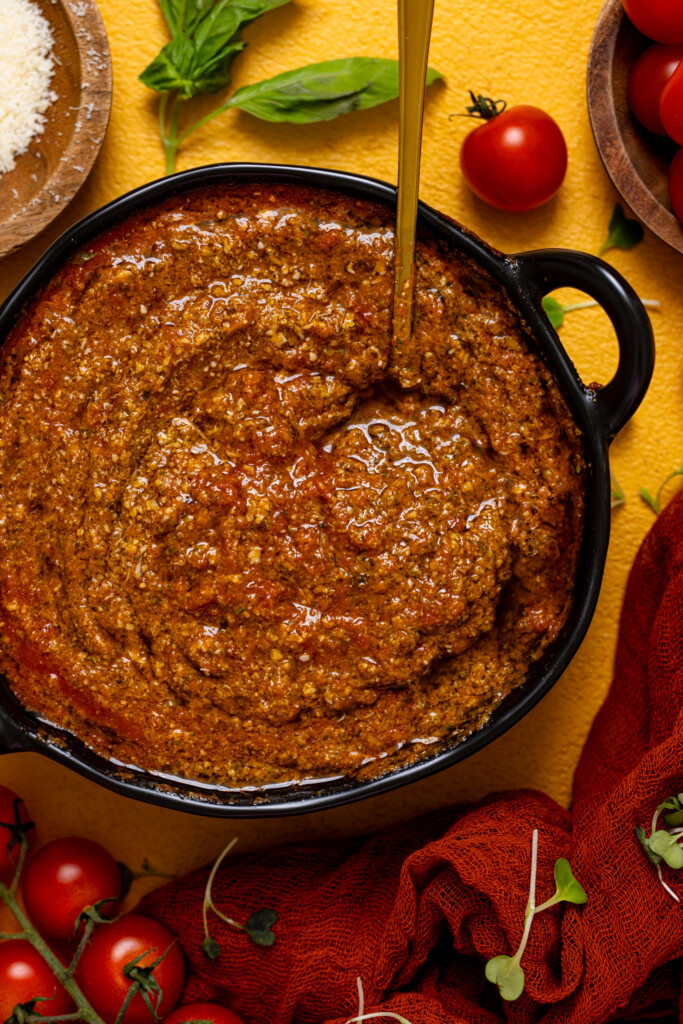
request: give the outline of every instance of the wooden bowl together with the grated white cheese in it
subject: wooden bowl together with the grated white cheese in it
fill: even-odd
[[[74,198],[99,152],[111,102],[95,0],[0,0],[0,257]]]

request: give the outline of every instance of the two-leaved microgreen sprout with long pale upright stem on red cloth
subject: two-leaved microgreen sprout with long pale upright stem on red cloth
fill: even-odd
[[[537,913],[547,910],[556,903],[585,903],[588,899],[581,883],[577,882],[571,871],[571,865],[565,857],[555,861],[555,892],[542,903],[536,905],[536,877],[539,860],[539,829],[535,828],[531,836],[531,867],[529,871],[528,899],[524,911],[524,931],[516,951],[512,956],[502,954],[494,956],[485,967],[488,981],[498,986],[501,996],[509,1002],[518,999],[524,990],[524,971],[521,958],[528,941],[531,923]]]

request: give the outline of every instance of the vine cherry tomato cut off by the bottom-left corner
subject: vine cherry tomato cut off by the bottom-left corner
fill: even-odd
[[[39,995],[45,996],[46,1001],[36,1004],[36,1013],[44,1017],[68,1014],[74,1009],[71,996],[30,942],[25,939],[0,942],[0,1020],[7,1020],[18,1004]]]

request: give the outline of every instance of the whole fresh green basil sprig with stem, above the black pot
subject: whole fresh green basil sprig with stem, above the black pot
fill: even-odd
[[[247,45],[242,30],[289,0],[160,0],[171,40],[139,76],[161,93],[159,127],[166,172],[175,169],[178,146],[187,136],[239,108],[264,121],[310,124],[375,106],[398,95],[398,61],[344,57],[307,65],[247,85],[196,124],[179,130],[181,104],[231,83],[232,63]],[[430,68],[427,84],[441,75]]]

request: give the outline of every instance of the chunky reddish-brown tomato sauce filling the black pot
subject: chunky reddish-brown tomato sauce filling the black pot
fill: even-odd
[[[368,777],[478,728],[564,624],[580,432],[501,289],[388,211],[202,189],[55,274],[0,382],[0,666],[119,762]],[[412,377],[409,389],[400,381]]]

